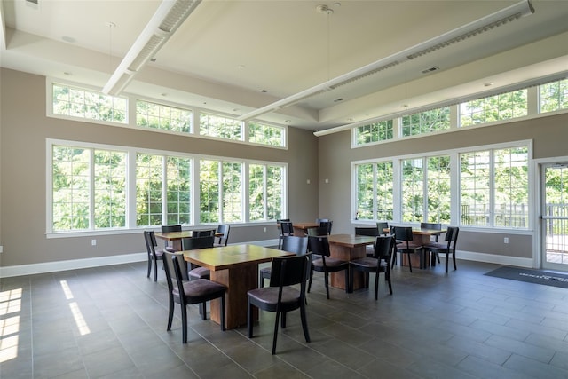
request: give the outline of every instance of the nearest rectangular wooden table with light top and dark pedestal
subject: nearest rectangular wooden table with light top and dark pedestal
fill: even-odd
[[[229,245],[221,248],[183,251],[184,259],[206,267],[211,280],[227,287],[225,292],[225,322],[227,328],[247,324],[247,292],[258,288],[258,264],[273,257],[294,256],[294,253],[256,245]],[[220,322],[220,300],[211,301],[211,320]],[[258,313],[255,314],[255,320]]]

